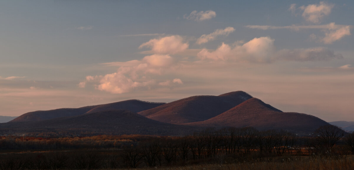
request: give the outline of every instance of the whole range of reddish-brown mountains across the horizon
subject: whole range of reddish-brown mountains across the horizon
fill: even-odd
[[[243,91],[170,103],[126,100],[25,113],[0,124],[0,134],[186,135],[208,127],[246,127],[309,134],[328,125],[312,115],[282,112]]]

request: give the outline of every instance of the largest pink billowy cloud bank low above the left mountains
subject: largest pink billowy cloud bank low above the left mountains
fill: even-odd
[[[135,90],[150,90],[158,86],[173,87],[183,84],[181,79],[159,79],[155,78],[166,73],[166,70],[173,69],[175,60],[170,55],[150,55],[142,60],[128,62],[116,62],[118,66],[116,73],[103,76],[87,76],[85,81],[79,83],[84,88],[88,83],[93,84],[97,90],[107,91],[112,94],[122,94]]]

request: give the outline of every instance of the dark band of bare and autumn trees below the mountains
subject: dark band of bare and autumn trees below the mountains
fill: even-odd
[[[1,157],[0,169],[96,169],[171,166],[196,163],[237,163],[310,155],[337,157],[354,154],[354,132],[326,125],[312,136],[297,136],[278,130],[208,128],[193,135],[178,136],[91,136],[44,138],[0,137],[1,149],[79,149],[80,152],[53,152]],[[83,149],[116,148],[112,152],[83,152]],[[80,150],[81,149],[81,150]],[[82,152],[81,152],[82,151]],[[81,154],[79,154],[81,153]],[[60,160],[60,161],[59,161]],[[16,168],[11,168],[15,167]],[[56,166],[56,167],[53,167]],[[10,167],[10,168],[9,168]]]

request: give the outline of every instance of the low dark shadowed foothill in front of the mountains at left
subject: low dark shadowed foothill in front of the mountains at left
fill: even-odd
[[[99,111],[36,122],[10,122],[0,127],[0,131],[5,132],[11,129],[17,133],[57,132],[81,135],[184,135],[190,130],[187,126],[161,123],[127,110]]]

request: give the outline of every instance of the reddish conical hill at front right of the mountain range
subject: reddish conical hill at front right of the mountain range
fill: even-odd
[[[259,130],[282,129],[293,132],[313,132],[318,127],[327,124],[324,120],[312,115],[281,112],[257,98],[251,98],[216,117],[184,125],[201,127],[252,126]]]

